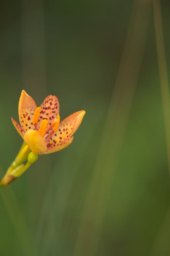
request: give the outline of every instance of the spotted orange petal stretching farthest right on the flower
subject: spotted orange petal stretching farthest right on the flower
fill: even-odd
[[[75,112],[74,114],[65,118],[60,123],[57,132],[52,135],[49,143],[47,143],[47,151],[49,150],[51,153],[51,152],[55,152],[55,151],[65,148],[65,147],[62,147],[63,145],[65,145],[64,142],[66,142],[67,139],[70,142],[69,138],[78,129],[79,125],[82,122],[84,115],[85,115],[85,111],[82,110],[82,111]],[[66,145],[67,145],[67,142],[66,142]],[[60,149],[57,149],[57,148],[60,148]],[[48,153],[46,153],[46,154],[48,154]]]

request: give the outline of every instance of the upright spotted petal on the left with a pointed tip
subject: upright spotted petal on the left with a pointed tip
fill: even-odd
[[[22,90],[21,96],[19,99],[18,113],[19,113],[19,121],[22,126],[24,132],[28,129],[34,129],[34,125],[32,124],[34,111],[36,109],[36,103],[30,97],[26,91]]]

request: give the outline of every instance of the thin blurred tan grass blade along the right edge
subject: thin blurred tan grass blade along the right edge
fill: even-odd
[[[159,67],[160,88],[162,93],[163,115],[165,135],[168,153],[168,165],[170,174],[170,96],[168,86],[168,73],[164,46],[161,6],[159,0],[153,0],[153,14],[156,37],[157,58]]]

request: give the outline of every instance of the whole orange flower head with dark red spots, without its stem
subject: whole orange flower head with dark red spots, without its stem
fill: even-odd
[[[73,134],[78,129],[85,111],[78,111],[60,123],[59,102],[56,96],[49,95],[40,105],[24,90],[19,99],[19,121],[12,122],[34,155],[49,154],[70,145]]]

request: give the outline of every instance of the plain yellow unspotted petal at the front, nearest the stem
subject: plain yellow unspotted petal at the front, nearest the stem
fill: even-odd
[[[35,155],[47,150],[46,142],[37,131],[28,130],[23,139]]]

